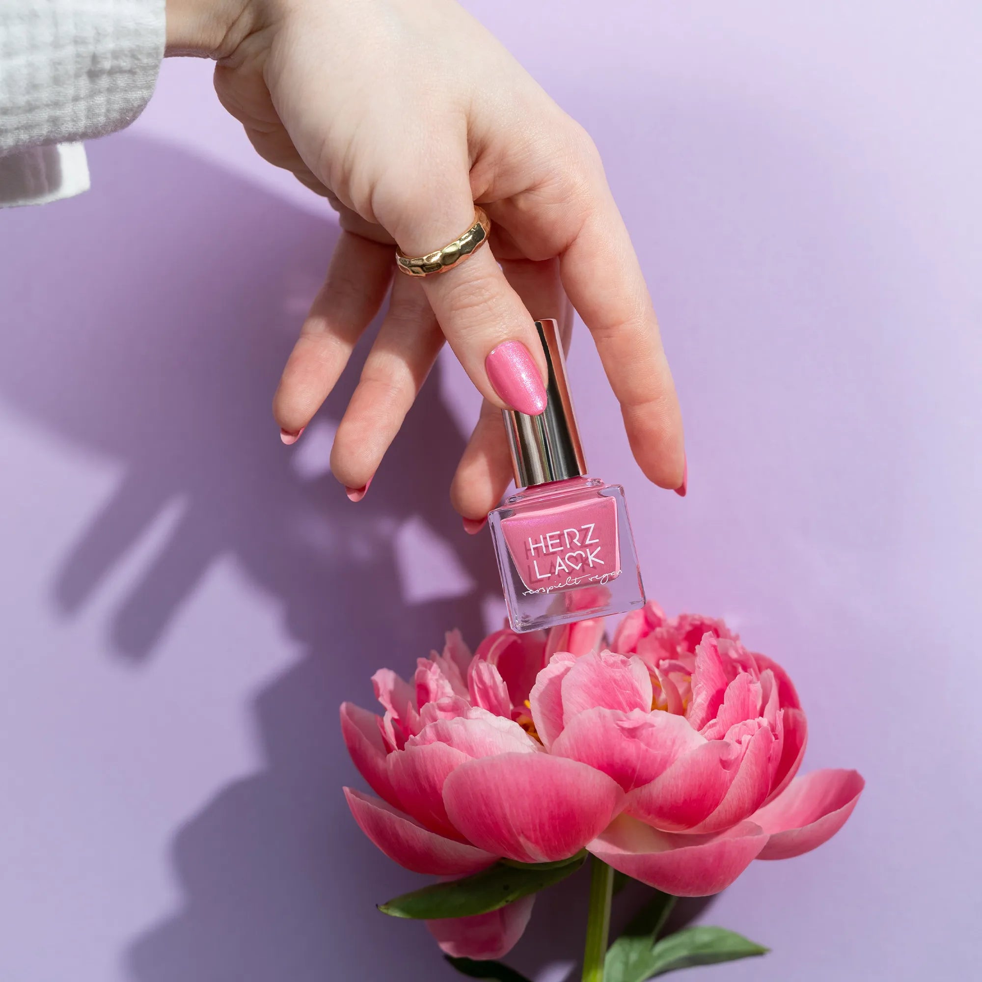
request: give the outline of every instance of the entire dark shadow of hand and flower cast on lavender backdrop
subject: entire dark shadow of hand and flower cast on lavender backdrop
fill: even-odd
[[[227,557],[278,599],[300,648],[254,702],[263,770],[177,830],[181,906],[134,939],[125,970],[135,982],[454,977],[420,925],[372,909],[421,881],[348,813],[341,786],[362,783],[337,706],[356,693],[366,702],[381,665],[409,673],[449,627],[471,643],[481,636],[482,601],[500,584],[487,537],[465,535],[447,502],[464,438],[432,377],[357,506],[326,460],[298,466],[301,445],[281,445],[269,401],[335,226],[142,137],[110,137],[90,156],[93,191],[7,220],[18,251],[0,270],[7,310],[32,321],[0,331],[0,399],[121,470],[53,575],[54,606],[65,618],[82,612],[170,514],[163,545],[110,615],[112,654],[135,670],[149,664]],[[61,271],[59,289],[38,269]],[[322,426],[340,419],[356,375],[346,373]],[[419,582],[437,560],[402,562],[408,523],[439,556],[449,550],[460,583],[434,593]],[[584,888],[543,897],[540,916],[570,923],[564,911]],[[567,932],[536,931],[522,960],[545,965],[569,945]]]

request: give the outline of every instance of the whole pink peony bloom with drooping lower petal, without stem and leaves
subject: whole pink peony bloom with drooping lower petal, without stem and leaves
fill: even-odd
[[[452,877],[585,846],[694,897],[842,828],[862,778],[795,779],[805,716],[776,663],[722,622],[669,621],[653,603],[622,622],[614,650],[603,636],[602,621],[548,636],[505,628],[471,657],[453,631],[418,660],[414,685],[377,672],[384,716],[341,707],[355,766],[381,797],[345,789],[365,835],[408,869]],[[448,954],[500,957],[531,904],[429,926]]]

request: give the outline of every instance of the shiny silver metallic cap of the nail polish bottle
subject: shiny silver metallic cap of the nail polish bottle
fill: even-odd
[[[537,320],[535,329],[549,365],[546,409],[537,416],[514,409],[503,413],[517,487],[548,484],[586,473],[559,325],[555,320]]]

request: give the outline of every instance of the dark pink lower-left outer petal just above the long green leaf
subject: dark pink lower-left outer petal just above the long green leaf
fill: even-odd
[[[466,876],[486,869],[497,856],[455,843],[424,829],[379,798],[345,789],[348,807],[361,831],[390,859],[413,873],[433,876]]]

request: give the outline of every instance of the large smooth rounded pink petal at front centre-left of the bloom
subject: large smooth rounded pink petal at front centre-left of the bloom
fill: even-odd
[[[443,799],[476,846],[519,862],[572,856],[607,827],[623,791],[599,771],[547,753],[506,753],[462,764]]]

